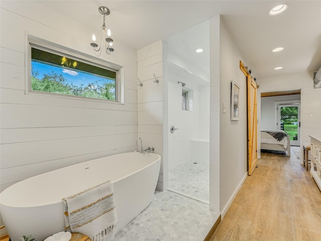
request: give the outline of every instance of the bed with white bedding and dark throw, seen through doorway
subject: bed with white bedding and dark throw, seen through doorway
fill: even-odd
[[[283,151],[291,156],[290,137],[281,130],[261,131],[261,150]]]

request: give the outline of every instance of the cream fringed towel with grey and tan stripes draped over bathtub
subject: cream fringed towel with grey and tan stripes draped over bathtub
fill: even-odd
[[[107,181],[63,199],[66,230],[92,241],[109,241],[118,223],[112,182]]]

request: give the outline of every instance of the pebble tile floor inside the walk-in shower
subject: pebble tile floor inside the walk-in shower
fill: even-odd
[[[190,161],[169,170],[169,188],[209,203],[209,162]]]

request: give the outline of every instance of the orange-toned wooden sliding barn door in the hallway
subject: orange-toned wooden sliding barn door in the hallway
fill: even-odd
[[[251,175],[257,165],[257,116],[256,90],[257,84],[251,75],[247,79],[247,116],[248,116],[248,175]]]

